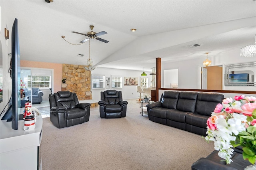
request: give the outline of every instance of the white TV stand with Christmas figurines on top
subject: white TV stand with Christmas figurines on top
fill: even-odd
[[[18,130],[12,122],[0,120],[0,169],[41,170],[42,116],[36,117],[36,128],[25,131],[24,120],[18,121]]]

